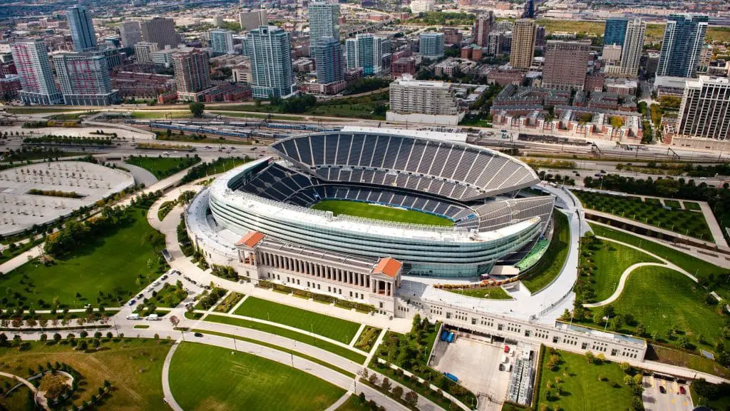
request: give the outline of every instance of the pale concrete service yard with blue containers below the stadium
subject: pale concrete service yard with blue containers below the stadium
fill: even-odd
[[[515,351],[511,350],[510,354],[512,352]],[[510,385],[510,373],[499,371],[503,355],[504,344],[490,344],[460,335],[451,344],[437,341],[430,365],[440,372],[455,375],[461,385],[480,396],[480,410],[501,410]],[[509,357],[511,361],[513,357]],[[493,401],[488,401],[486,396]]]

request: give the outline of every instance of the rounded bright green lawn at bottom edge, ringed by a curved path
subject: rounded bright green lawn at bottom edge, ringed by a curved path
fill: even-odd
[[[170,364],[170,388],[184,410],[324,410],[345,390],[266,358],[183,343]]]

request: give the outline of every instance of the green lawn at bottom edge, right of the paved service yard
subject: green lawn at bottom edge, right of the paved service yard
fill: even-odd
[[[540,377],[539,393],[535,410],[547,405],[551,410],[570,411],[623,411],[631,409],[633,393],[631,387],[623,384],[626,375],[618,363],[588,363],[585,356],[565,351],[555,351],[560,361],[553,371],[548,368],[548,349]],[[604,381],[599,380],[604,377]],[[559,379],[560,382],[557,382]],[[552,388],[548,388],[548,384]],[[557,388],[561,395],[558,396]],[[548,399],[550,391],[550,399]]]

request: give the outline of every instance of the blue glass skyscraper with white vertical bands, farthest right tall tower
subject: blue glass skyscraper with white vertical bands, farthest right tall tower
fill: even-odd
[[[707,15],[673,14],[666,19],[658,76],[692,78],[707,34]]]

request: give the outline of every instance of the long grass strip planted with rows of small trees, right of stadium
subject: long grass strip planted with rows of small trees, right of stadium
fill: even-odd
[[[704,216],[687,210],[666,210],[658,203],[642,202],[639,197],[621,197],[575,190],[585,208],[621,216],[674,233],[712,241]]]

